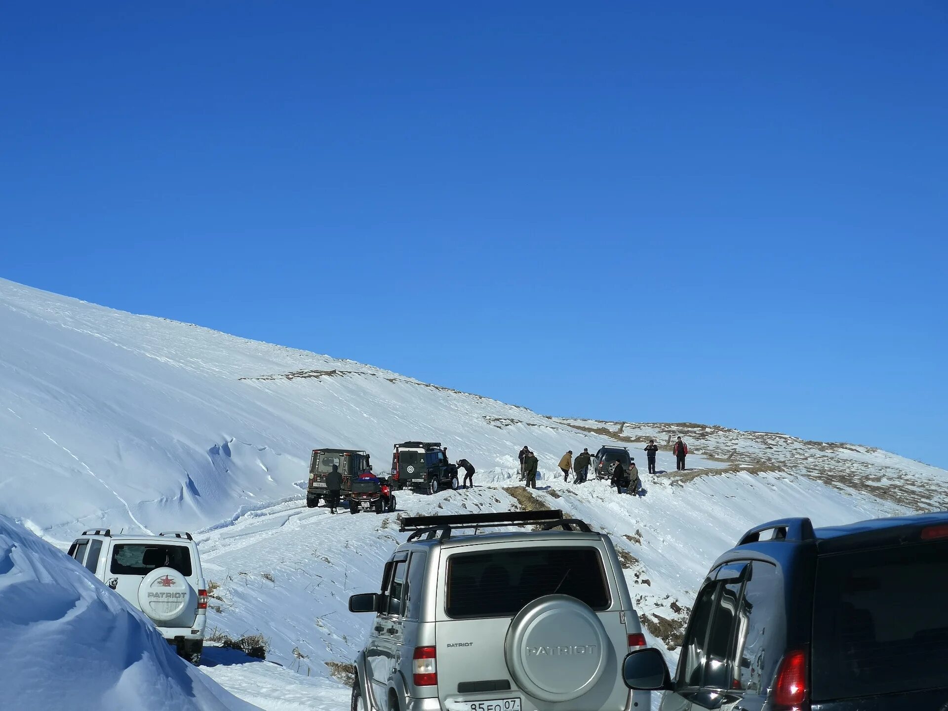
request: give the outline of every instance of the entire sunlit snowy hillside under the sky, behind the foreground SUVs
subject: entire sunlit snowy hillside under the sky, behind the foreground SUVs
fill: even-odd
[[[206,672],[264,708],[347,707],[330,672],[344,676],[339,665],[369,626],[346,610],[348,595],[376,589],[404,539],[396,515],[305,507],[313,447],[364,448],[385,471],[392,443],[440,440],[477,467],[477,485],[402,492],[400,511],[550,506],[610,533],[649,639],[670,660],[708,565],[754,523],[806,515],[826,525],[946,506],[948,472],[871,447],[547,417],[5,281],[0,333],[0,514],[59,545],[103,525],[199,531],[213,581],[209,629],[261,632],[267,659],[282,665],[217,664],[212,653]],[[691,449],[684,473],[665,447],[677,434]],[[664,447],[655,476],[641,451],[650,436]],[[567,449],[607,441],[638,448],[645,496],[562,482],[556,463]],[[513,474],[523,445],[539,455],[534,495]],[[0,565],[0,585],[6,575]]]

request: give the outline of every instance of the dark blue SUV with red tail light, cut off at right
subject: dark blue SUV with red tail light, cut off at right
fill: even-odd
[[[675,678],[654,648],[624,673],[662,711],[948,711],[948,512],[757,526],[704,579]]]

